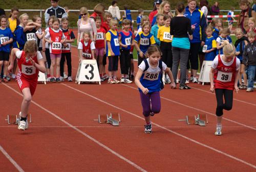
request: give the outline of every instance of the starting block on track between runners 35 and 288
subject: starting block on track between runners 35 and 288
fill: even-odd
[[[98,119],[94,120],[98,120],[100,124],[112,124],[112,126],[119,126],[119,122],[121,122],[120,114],[116,112],[110,113],[110,116],[99,114]]]

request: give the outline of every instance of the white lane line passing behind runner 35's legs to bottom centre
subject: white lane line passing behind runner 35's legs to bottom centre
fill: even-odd
[[[6,87],[8,87],[9,89],[13,90],[14,92],[16,92],[17,94],[19,94],[20,96],[23,96],[20,92],[16,91],[15,89],[13,89],[12,87],[4,84]],[[95,138],[91,137],[90,135],[86,134],[85,132],[82,132],[81,130],[79,130],[78,128],[76,128],[75,126],[71,125],[69,122],[67,122],[66,120],[62,119],[61,117],[59,117],[58,115],[56,115],[55,113],[49,111],[48,109],[42,107],[41,105],[37,104],[34,101],[31,101],[34,105],[36,105],[37,107],[39,107],[40,109],[48,112],[49,114],[51,114],[52,116],[54,116],[55,118],[59,119],[60,121],[62,121],[64,124],[66,124],[67,126],[71,127],[72,129],[74,129],[75,131],[79,132],[80,134],[82,134],[83,136],[86,136],[87,138],[89,138],[90,140],[94,141],[96,144],[100,145],[102,148],[104,148],[105,150],[111,152],[112,154],[114,154],[115,156],[117,156],[118,158],[124,160],[125,162],[131,164],[133,167],[137,168],[140,171],[146,172],[145,169],[143,169],[142,167],[140,167],[139,165],[135,164],[134,162],[132,162],[129,159],[126,159],[125,157],[123,157],[122,155],[118,154],[117,152],[115,152],[114,150],[110,149],[108,146],[106,146],[105,144],[99,142],[98,140],[96,140]]]

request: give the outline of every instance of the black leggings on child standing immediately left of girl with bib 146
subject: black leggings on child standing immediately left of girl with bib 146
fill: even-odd
[[[121,50],[120,51],[120,67],[121,67],[121,74],[128,75],[128,71],[130,68],[130,50]]]

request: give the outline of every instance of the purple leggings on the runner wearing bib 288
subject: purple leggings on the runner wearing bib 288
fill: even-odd
[[[159,113],[161,110],[161,101],[160,101],[160,93],[151,92],[147,94],[143,94],[140,92],[140,100],[143,108],[143,115],[149,116],[150,112]]]

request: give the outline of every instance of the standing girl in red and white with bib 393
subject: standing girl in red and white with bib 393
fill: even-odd
[[[60,72],[60,59],[61,59],[61,47],[62,43],[65,42],[66,37],[63,32],[59,29],[59,20],[55,17],[52,21],[52,29],[49,29],[49,32],[46,34],[46,41],[50,43],[50,57],[51,57],[51,66],[50,73],[51,79],[50,82],[61,82],[59,77]],[[50,38],[50,40],[48,39]],[[56,80],[53,76],[54,67],[56,65]]]

